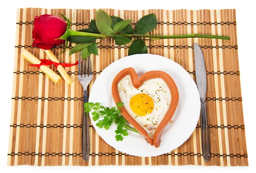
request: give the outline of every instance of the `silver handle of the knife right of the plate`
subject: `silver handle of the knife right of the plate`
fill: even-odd
[[[206,102],[201,102],[201,138],[202,138],[202,152],[206,162],[210,159],[210,139],[209,139],[209,125],[207,117]]]

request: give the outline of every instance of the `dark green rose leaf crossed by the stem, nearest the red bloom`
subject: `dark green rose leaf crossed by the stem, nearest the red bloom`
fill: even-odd
[[[80,32],[89,32],[89,33],[97,33],[96,31],[92,30],[92,29],[80,29],[78,30]],[[69,36],[67,37],[67,40],[70,41],[71,43],[76,43],[76,44],[80,44],[80,43],[92,43],[97,39],[97,37],[90,37],[90,36]]]

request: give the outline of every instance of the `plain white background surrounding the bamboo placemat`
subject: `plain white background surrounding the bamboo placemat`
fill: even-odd
[[[161,1],[161,3],[159,3]],[[0,5],[0,171],[4,172],[255,172],[255,63],[256,63],[256,9],[253,0],[3,0]],[[249,167],[202,167],[202,166],[102,166],[102,167],[7,167],[9,124],[11,114],[12,78],[15,52],[16,9],[27,7],[69,9],[236,9],[239,68],[243,99],[244,123]],[[253,171],[254,170],[254,171]]]

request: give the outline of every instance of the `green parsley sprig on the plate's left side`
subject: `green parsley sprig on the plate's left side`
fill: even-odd
[[[84,103],[84,109],[85,112],[89,113],[91,110],[93,110],[92,114],[92,119],[93,121],[99,120],[100,116],[103,116],[102,120],[99,120],[96,123],[96,126],[99,128],[105,128],[108,130],[110,126],[114,123],[116,123],[117,128],[115,130],[116,133],[116,141],[122,141],[123,136],[128,136],[127,130],[131,130],[135,133],[139,133],[135,128],[132,128],[128,125],[125,124],[126,119],[123,116],[120,116],[119,114],[121,113],[119,108],[123,107],[122,102],[118,102],[116,104],[116,107],[113,108],[108,108],[100,105],[100,103],[96,102],[86,102]]]

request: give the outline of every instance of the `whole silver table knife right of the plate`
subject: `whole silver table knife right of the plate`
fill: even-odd
[[[210,159],[210,140],[209,140],[209,126],[206,108],[206,68],[204,62],[204,54],[201,47],[194,43],[194,55],[195,55],[195,78],[200,94],[201,101],[201,140],[202,140],[202,152],[204,160],[206,162]]]

